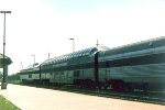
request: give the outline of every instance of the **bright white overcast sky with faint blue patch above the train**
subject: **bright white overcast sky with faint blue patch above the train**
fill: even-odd
[[[100,45],[117,47],[165,36],[165,0],[0,0],[7,14],[9,75],[51,57]],[[2,53],[3,14],[0,14]]]

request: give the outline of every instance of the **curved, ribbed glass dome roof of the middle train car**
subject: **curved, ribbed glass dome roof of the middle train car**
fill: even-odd
[[[77,52],[74,52],[74,53],[70,53],[70,54],[65,54],[65,55],[62,55],[62,56],[57,56],[57,57],[47,59],[42,65],[53,64],[53,63],[67,61],[67,59],[73,59],[73,58],[80,57],[80,56],[90,56],[90,55],[95,54],[98,51],[106,51],[106,50],[109,50],[109,47],[107,47],[107,46],[89,47],[89,48],[77,51]]]

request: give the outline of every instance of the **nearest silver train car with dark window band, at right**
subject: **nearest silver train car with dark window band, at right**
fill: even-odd
[[[100,81],[113,89],[165,88],[165,37],[101,52],[98,61]]]

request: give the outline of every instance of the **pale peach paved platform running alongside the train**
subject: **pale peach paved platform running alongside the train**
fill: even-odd
[[[8,85],[0,95],[22,110],[165,110],[165,106]]]

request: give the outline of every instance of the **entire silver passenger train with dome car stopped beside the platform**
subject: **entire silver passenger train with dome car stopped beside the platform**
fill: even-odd
[[[165,37],[109,48],[90,47],[18,73],[32,82],[114,90],[165,90]]]

